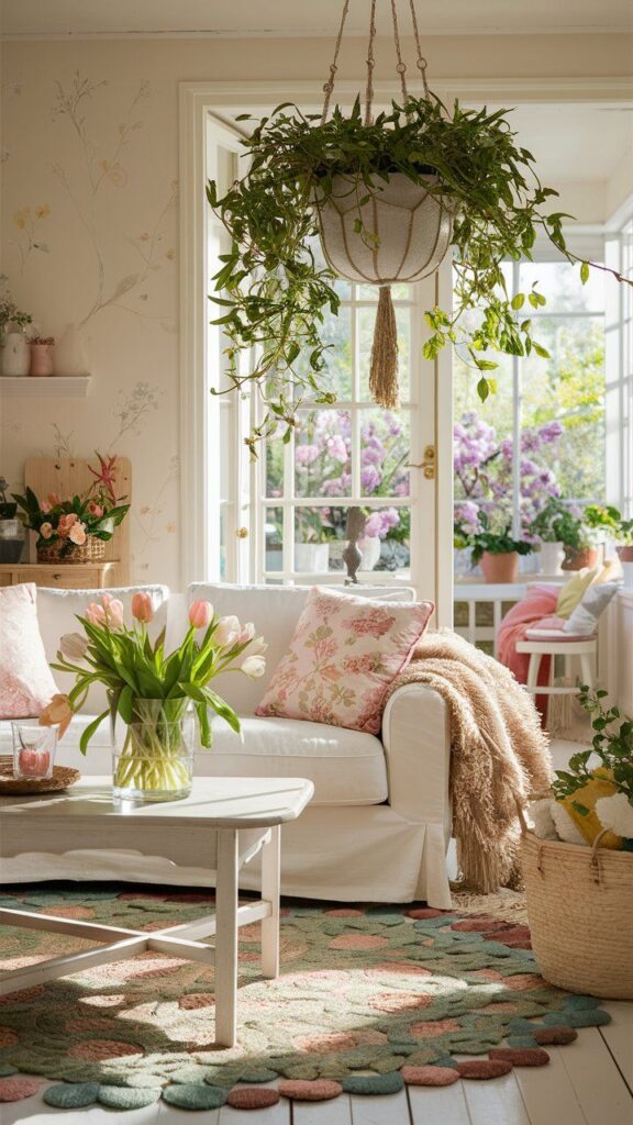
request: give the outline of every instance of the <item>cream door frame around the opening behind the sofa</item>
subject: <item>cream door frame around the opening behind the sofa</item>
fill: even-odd
[[[358,92],[356,81],[337,82],[337,100],[349,105]],[[631,104],[630,79],[439,79],[434,82],[443,99],[466,102],[603,102]],[[396,82],[376,82],[375,101],[398,97]],[[184,584],[202,578],[208,566],[206,442],[206,240],[204,192],[207,168],[206,117],[235,128],[232,116],[251,109],[270,109],[284,101],[322,101],[318,81],[181,82],[179,87],[180,150],[180,450],[181,450],[181,576]],[[451,300],[449,271],[437,274],[438,303]],[[437,608],[437,623],[453,621],[453,388],[452,357],[440,352],[435,364],[434,429],[435,478],[435,591],[420,591]],[[444,439],[444,440],[442,440]]]

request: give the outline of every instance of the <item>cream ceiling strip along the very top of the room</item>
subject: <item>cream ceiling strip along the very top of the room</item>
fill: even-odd
[[[342,0],[0,0],[7,36],[331,36]],[[398,0],[408,34],[407,0]],[[391,30],[378,2],[378,33]],[[633,30],[632,0],[416,0],[426,35]],[[348,34],[365,35],[368,0],[350,0]]]

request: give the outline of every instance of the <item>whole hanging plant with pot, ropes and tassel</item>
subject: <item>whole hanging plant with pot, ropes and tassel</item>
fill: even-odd
[[[449,112],[428,89],[413,0],[424,97],[408,93],[395,0],[391,2],[402,98],[372,118],[372,0],[364,112],[358,97],[349,112],[336,106],[328,117],[346,0],[323,112],[278,106],[243,140],[244,176],[222,197],[214,181],[207,186],[208,202],[232,240],[214,278],[212,299],[222,315],[213,323],[222,325],[229,340],[232,387],[257,385],[265,405],[262,421],[247,439],[252,451],[279,424],[289,440],[302,400],[336,399],[328,388],[329,345],[321,327],[326,313],[339,309],[337,276],[381,287],[371,388],[380,405],[391,407],[398,400],[392,281],[418,280],[453,249],[454,307],[426,312],[431,334],[424,356],[434,360],[443,348],[457,348],[484,400],[496,389],[491,372],[499,366],[497,353],[549,358],[533,336],[529,317],[529,308],[545,305],[545,297],[536,287],[511,296],[503,261],[532,259],[536,237],[544,234],[568,261],[580,263],[582,284],[590,266],[606,270],[578,259],[565,245],[562,222],[571,216],[549,209],[558,192],[541,183],[534,156],[507,120],[509,111],[470,109],[455,101]],[[326,266],[313,252],[316,237]],[[481,314],[472,328],[463,318],[469,309]],[[249,353],[248,370],[240,363],[243,352]]]

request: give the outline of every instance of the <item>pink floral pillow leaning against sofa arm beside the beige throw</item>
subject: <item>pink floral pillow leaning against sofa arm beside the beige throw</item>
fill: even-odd
[[[377,602],[314,586],[256,713],[377,735],[390,685],[433,602]]]

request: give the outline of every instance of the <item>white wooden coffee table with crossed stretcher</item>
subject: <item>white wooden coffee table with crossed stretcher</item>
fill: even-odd
[[[197,777],[181,801],[114,801],[107,777],[86,777],[63,793],[0,798],[1,860],[24,852],[63,855],[73,848],[133,848],[177,864],[195,860],[216,873],[216,912],[151,934],[115,926],[0,909],[0,924],[72,934],[98,948],[18,969],[0,980],[0,996],[96,965],[155,950],[215,965],[215,1041],[237,1037],[238,928],[261,920],[261,972],[279,972],[280,826],[310,801],[312,782],[297,777]],[[261,852],[261,899],[238,906],[240,867]],[[211,882],[211,879],[209,879]],[[215,945],[197,940],[215,934]]]

